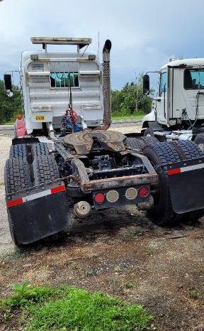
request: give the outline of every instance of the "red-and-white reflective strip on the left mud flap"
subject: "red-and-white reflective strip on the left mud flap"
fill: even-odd
[[[8,208],[21,205],[23,202],[28,202],[31,200],[38,199],[39,197],[45,197],[46,195],[55,194],[57,192],[64,192],[66,190],[64,185],[56,186],[55,188],[50,188],[50,190],[42,190],[41,192],[27,195],[26,197],[19,197],[15,200],[9,200],[6,202]]]

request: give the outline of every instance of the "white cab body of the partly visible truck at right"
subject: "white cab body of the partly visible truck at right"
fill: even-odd
[[[149,75],[145,76],[148,82]],[[203,124],[204,58],[172,60],[159,70],[157,97],[142,126],[147,128],[153,122],[163,129],[191,129]]]

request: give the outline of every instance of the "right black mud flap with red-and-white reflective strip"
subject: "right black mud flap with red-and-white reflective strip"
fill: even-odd
[[[171,204],[183,214],[204,208],[204,158],[167,165]]]

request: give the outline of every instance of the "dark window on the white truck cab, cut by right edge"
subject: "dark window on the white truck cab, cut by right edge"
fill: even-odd
[[[204,70],[184,71],[184,89],[204,89]]]

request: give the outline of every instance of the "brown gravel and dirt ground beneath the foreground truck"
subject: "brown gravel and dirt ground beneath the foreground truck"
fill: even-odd
[[[113,129],[134,132],[140,127]],[[0,296],[11,293],[13,283],[68,283],[145,305],[154,316],[152,330],[204,331],[203,219],[158,227],[129,206],[74,222],[64,242],[13,249],[3,184],[10,145],[11,138],[0,136]],[[0,330],[21,327],[0,316]]]

